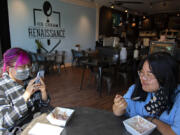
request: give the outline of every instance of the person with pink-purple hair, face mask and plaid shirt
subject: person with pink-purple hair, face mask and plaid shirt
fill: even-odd
[[[27,83],[31,60],[28,53],[20,48],[7,50],[3,55],[3,75],[0,78],[0,134],[10,134],[15,127],[31,120],[49,98],[42,79]]]

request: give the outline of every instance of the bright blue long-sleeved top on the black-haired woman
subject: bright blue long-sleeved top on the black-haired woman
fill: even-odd
[[[127,91],[127,93],[124,95],[124,98],[131,98],[134,88],[135,88],[135,85],[132,85]],[[177,90],[180,90],[180,85],[178,85]],[[128,104],[127,109],[126,109],[127,115],[129,117],[133,117],[135,115],[140,115],[143,117],[148,117],[148,116],[152,117],[152,115],[149,114],[144,108],[144,106],[150,101],[151,94],[152,93],[148,93],[145,101],[133,101],[131,99],[125,99]],[[164,111],[159,117],[159,120],[170,125],[172,130],[177,135],[180,135],[180,93],[176,95],[176,98],[174,101],[175,102],[170,113],[168,114],[167,111]]]

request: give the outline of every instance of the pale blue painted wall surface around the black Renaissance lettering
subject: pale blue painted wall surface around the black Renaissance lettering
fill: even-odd
[[[65,38],[61,39],[57,50],[67,52],[66,62],[71,61],[71,49],[75,44],[80,44],[81,49],[94,48],[96,41],[96,9],[80,5],[48,0],[53,11],[61,13],[61,27],[65,29]],[[33,9],[42,9],[44,0],[8,0],[10,37],[12,47],[21,47],[28,51],[36,52],[35,39],[28,35],[28,28],[34,26]],[[38,19],[46,21],[44,14],[37,14]],[[51,22],[57,21],[57,16],[49,17]],[[51,50],[57,39],[40,39],[47,50]]]

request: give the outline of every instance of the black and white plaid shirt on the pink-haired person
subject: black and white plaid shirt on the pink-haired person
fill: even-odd
[[[16,122],[28,112],[28,108],[32,109],[34,102],[41,99],[38,93],[33,94],[26,103],[22,97],[24,92],[24,86],[12,80],[8,73],[3,73],[0,78],[0,134],[14,127]]]

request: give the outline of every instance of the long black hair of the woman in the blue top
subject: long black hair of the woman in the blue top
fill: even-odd
[[[165,95],[168,97],[168,111],[170,111],[174,102],[173,99],[176,96],[175,90],[178,84],[178,64],[169,53],[156,52],[148,55],[140,62],[138,67],[139,71],[146,61],[149,63],[149,68],[156,77],[160,87],[164,89]],[[135,90],[131,98],[140,96],[141,98],[139,101],[145,101],[147,92],[142,89],[139,76],[135,84]]]

